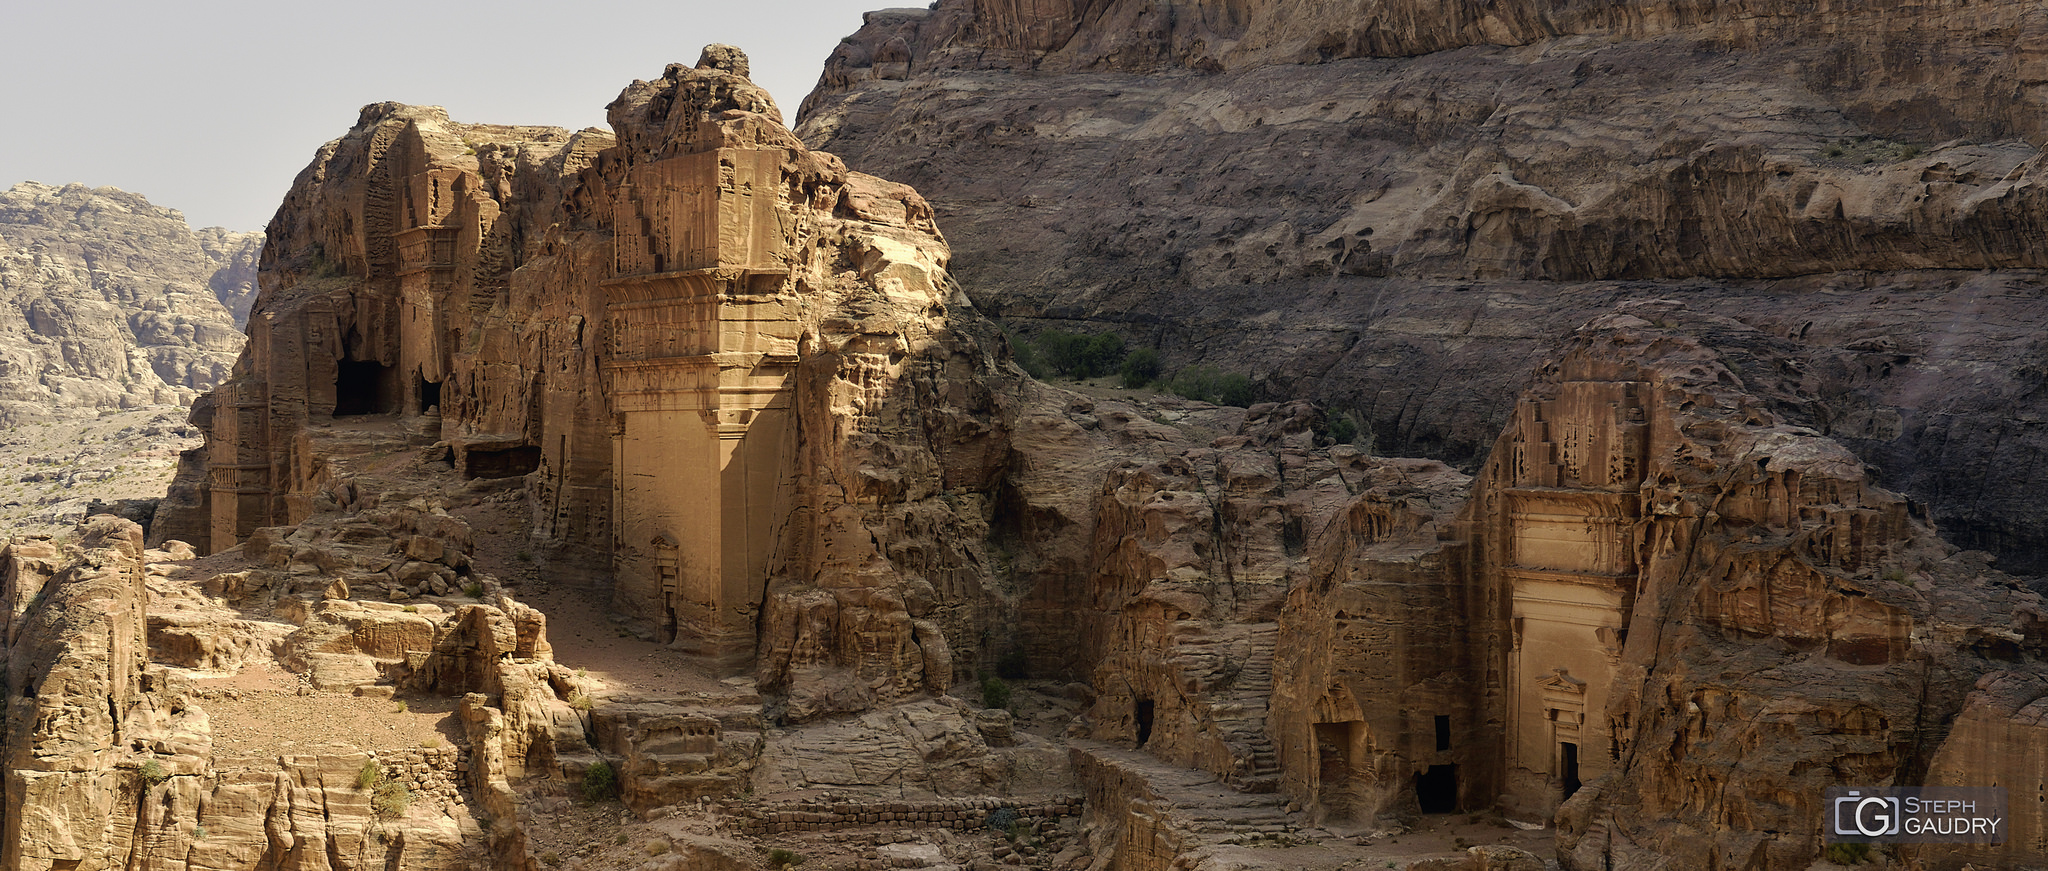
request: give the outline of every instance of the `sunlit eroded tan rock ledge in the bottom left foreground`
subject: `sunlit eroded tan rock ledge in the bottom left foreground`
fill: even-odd
[[[184,672],[152,664],[150,627],[164,623],[145,559],[172,553],[143,551],[141,529],[115,516],[84,525],[61,559],[47,549],[0,551],[8,594],[33,596],[4,648],[8,869],[477,867],[475,820],[438,787],[453,748],[410,760],[350,746],[219,750]],[[422,812],[373,807],[365,764],[410,783]]]

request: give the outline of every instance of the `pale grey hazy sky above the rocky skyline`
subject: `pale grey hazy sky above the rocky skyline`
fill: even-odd
[[[895,6],[901,6],[897,0]],[[0,189],[113,184],[195,227],[262,230],[367,102],[604,127],[635,78],[705,43],[752,59],[786,121],[883,0],[20,0],[0,16]]]

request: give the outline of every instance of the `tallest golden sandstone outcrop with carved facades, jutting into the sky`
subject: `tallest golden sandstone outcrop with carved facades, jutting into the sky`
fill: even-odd
[[[344,539],[410,523],[352,475],[444,443],[461,475],[524,484],[537,549],[639,631],[727,670],[758,652],[788,717],[950,687],[999,613],[983,531],[1016,375],[948,320],[918,193],[805,150],[743,72],[713,47],[635,82],[610,135],[367,107],[279,211],[250,344],[195,410],[209,480],[166,529],[205,514],[203,549],[274,553],[262,529],[324,512]],[[276,568],[459,584],[467,543],[416,543]]]

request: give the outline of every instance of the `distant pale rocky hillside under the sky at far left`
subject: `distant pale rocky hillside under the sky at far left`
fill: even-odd
[[[186,406],[242,348],[262,234],[84,184],[0,193],[0,523],[63,531],[162,496]]]

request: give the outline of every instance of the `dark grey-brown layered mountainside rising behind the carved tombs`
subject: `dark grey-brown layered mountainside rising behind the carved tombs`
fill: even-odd
[[[799,135],[915,184],[975,303],[1473,469],[1626,299],[1796,342],[1782,412],[2048,570],[2048,16],[1991,2],[940,0]]]

